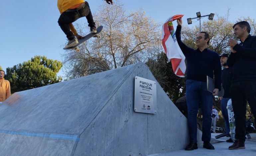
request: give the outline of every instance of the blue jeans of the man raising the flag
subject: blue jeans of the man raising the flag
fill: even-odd
[[[197,142],[197,112],[198,103],[202,109],[202,141],[211,140],[211,110],[213,103],[212,93],[207,91],[206,82],[187,80],[186,98],[188,105],[188,124],[190,142]]]

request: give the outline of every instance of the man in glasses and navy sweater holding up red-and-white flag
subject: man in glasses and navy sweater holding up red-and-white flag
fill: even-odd
[[[209,34],[200,32],[196,38],[197,49],[192,49],[181,41],[182,19],[177,20],[176,38],[187,60],[186,97],[188,105],[188,124],[190,143],[185,150],[197,149],[197,112],[198,103],[202,109],[202,141],[206,149],[214,149],[211,139],[211,110],[213,96],[218,95],[221,89],[221,64],[219,54],[207,48]],[[207,76],[215,77],[213,93],[207,91]]]

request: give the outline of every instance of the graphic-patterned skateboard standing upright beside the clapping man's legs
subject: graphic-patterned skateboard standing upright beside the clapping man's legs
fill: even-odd
[[[227,102],[227,114],[228,114],[228,121],[229,121],[229,129],[230,129],[230,137],[233,141],[235,141],[235,118],[234,118],[234,111],[232,106],[231,99]]]

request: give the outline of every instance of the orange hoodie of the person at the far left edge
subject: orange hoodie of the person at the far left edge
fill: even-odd
[[[11,96],[10,82],[4,78],[0,79],[0,102],[4,102]]]

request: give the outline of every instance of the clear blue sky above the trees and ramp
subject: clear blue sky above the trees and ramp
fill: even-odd
[[[100,10],[99,6],[106,3],[102,0],[87,2],[92,13]],[[115,5],[115,0],[113,2]],[[228,9],[231,21],[247,16],[256,19],[255,0],[247,0],[246,3],[241,0],[123,0],[122,3],[128,11],[143,8],[147,15],[159,23],[164,23],[170,16],[183,14],[183,25],[188,25],[186,19],[196,17],[196,12],[200,12],[201,15],[214,13],[216,18],[216,14],[225,16]],[[49,59],[61,61],[61,54],[66,52],[62,49],[66,38],[57,23],[59,16],[57,0],[2,1],[0,65],[3,70],[28,61],[35,55],[45,55]],[[207,18],[201,22],[204,20]],[[86,18],[80,18],[78,22],[85,23]],[[199,25],[196,19],[189,26],[195,25]],[[58,75],[64,76],[63,71],[61,70]]]

